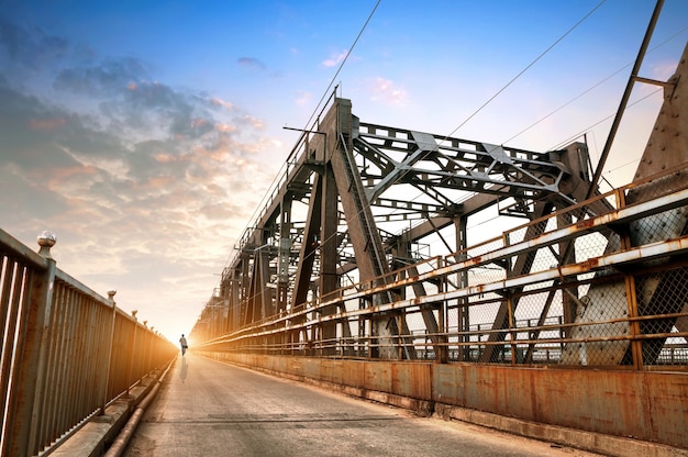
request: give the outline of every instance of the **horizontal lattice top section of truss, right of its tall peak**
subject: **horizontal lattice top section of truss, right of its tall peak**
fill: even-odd
[[[552,153],[365,123],[354,132],[354,148],[370,200],[393,185],[411,183],[447,207],[455,199],[443,191],[457,190],[535,200],[559,193],[574,202],[559,191],[569,171]]]

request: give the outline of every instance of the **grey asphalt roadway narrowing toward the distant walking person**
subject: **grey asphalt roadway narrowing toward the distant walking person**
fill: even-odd
[[[193,456],[588,457],[459,422],[187,355],[167,375],[124,454]]]

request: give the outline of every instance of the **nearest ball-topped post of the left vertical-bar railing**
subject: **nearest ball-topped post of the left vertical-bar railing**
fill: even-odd
[[[37,435],[45,398],[56,269],[51,247],[55,245],[56,237],[51,232],[43,232],[37,241],[41,246],[38,254],[45,258],[46,268],[43,275],[27,275],[31,278],[26,287],[27,309],[20,316],[19,335],[22,342],[18,345],[15,356],[22,363],[12,379],[16,397],[10,401],[11,411],[7,415],[8,442],[4,447],[9,448],[8,455],[11,456],[36,455],[42,445]]]

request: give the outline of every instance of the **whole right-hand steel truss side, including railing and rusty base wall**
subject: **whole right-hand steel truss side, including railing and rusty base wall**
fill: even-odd
[[[664,103],[633,182],[606,193],[584,143],[384,126],[333,96],[237,242],[195,350],[444,416],[688,448],[686,57],[668,81],[642,78]]]

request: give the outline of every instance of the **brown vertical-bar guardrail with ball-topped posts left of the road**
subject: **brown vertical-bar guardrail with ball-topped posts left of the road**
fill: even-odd
[[[47,455],[177,347],[0,230],[0,455]]]

